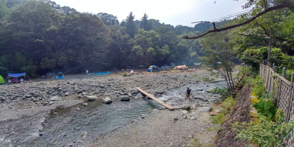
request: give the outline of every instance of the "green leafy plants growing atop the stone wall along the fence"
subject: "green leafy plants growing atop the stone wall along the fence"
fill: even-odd
[[[245,79],[245,83],[253,85],[252,91],[260,100],[253,104],[258,111],[257,120],[232,124],[232,130],[236,131],[235,138],[238,138],[238,140],[245,138],[258,146],[283,146],[283,138],[293,131],[294,121],[284,122],[283,111],[275,108],[275,92],[266,93],[259,76],[248,77]]]

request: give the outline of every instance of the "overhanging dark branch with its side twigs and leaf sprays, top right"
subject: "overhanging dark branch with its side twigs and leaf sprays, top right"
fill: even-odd
[[[238,1],[238,0],[236,0],[236,1]],[[216,25],[215,25],[215,22],[198,21],[198,22],[206,22],[206,23],[213,24],[213,29],[208,30],[208,31],[206,31],[206,32],[204,32],[204,33],[202,33],[200,35],[193,36],[193,37],[183,36],[183,39],[197,39],[197,38],[205,36],[206,34],[209,34],[209,33],[225,31],[225,30],[228,30],[228,29],[233,29],[233,28],[236,28],[236,27],[239,27],[239,26],[243,26],[243,25],[246,25],[246,24],[254,21],[258,17],[262,16],[263,14],[266,14],[268,12],[275,11],[275,10],[280,10],[280,9],[287,8],[287,9],[291,10],[292,12],[294,12],[294,1],[293,0],[281,0],[279,2],[276,2],[275,0],[250,0],[250,1],[248,1],[248,3],[246,3],[243,6],[243,9],[248,9],[253,5],[255,5],[255,6],[250,11],[251,14],[249,15],[249,18],[246,17],[247,14],[243,14],[242,17],[246,17],[248,19],[246,19],[246,20],[244,20],[244,21],[242,21],[240,23],[233,24],[233,25],[230,25],[230,26],[226,26],[226,27],[217,29]],[[198,22],[195,22],[195,23],[198,23]]]

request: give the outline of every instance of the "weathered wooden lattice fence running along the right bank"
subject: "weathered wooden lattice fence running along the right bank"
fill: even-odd
[[[277,66],[271,67],[260,64],[259,76],[265,82],[265,89],[269,93],[274,93],[277,98],[277,108],[285,113],[285,122],[288,123],[294,118],[294,73],[292,73],[291,82],[277,73]],[[286,147],[294,147],[294,133],[290,134]]]

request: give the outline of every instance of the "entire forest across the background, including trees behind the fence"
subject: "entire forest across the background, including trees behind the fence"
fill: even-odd
[[[256,7],[214,24],[223,27],[239,23],[258,11]],[[80,13],[50,0],[1,0],[0,20],[0,75],[26,72],[35,77],[52,70],[75,74],[86,69],[96,72],[133,65],[211,64],[222,60],[220,56],[205,56],[214,46],[205,39],[214,33],[200,39],[183,37],[211,29],[213,24],[206,22],[172,26],[148,19],[146,13],[135,16],[132,11],[119,21],[112,14]],[[256,66],[267,58],[265,37],[274,25],[273,59],[282,63],[280,56],[284,55],[293,60],[289,55],[293,54],[294,21],[293,11],[288,9],[268,12],[247,25],[221,33],[223,36],[217,35],[216,40],[229,39],[227,60],[240,59]]]

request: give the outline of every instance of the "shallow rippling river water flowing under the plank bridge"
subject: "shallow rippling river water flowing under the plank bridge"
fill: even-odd
[[[178,101],[183,98],[186,87],[192,89],[192,93],[197,95],[205,93],[212,87],[225,85],[224,81],[205,83],[209,87],[203,87],[203,83],[188,84],[181,88],[172,89],[166,95],[158,97],[162,101]],[[203,91],[197,91],[203,88]],[[0,122],[0,146],[5,147],[39,147],[52,146],[62,147],[82,139],[82,133],[87,132],[86,139],[91,139],[94,135],[107,133],[115,128],[121,127],[136,119],[141,114],[148,114],[154,108],[161,105],[149,99],[131,99],[130,101],[115,100],[110,104],[104,104],[101,100],[88,102],[88,106],[76,105],[69,108],[56,108],[51,111],[44,128],[41,122],[44,120],[44,113],[35,116],[24,117],[18,120]],[[80,110],[77,110],[80,108]],[[58,115],[53,113],[57,112]],[[39,129],[43,128],[39,135]],[[14,132],[15,134],[9,135]]]

